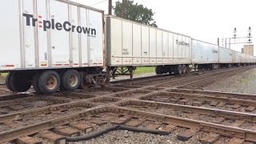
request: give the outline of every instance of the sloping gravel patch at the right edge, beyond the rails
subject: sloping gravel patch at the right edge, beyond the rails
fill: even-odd
[[[256,94],[256,69],[248,70],[230,78],[223,78],[221,81],[203,87],[203,90]]]

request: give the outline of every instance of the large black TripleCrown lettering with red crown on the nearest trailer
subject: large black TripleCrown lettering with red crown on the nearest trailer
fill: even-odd
[[[82,26],[74,26],[71,25],[70,22],[55,22],[52,18],[51,21],[43,20],[41,15],[38,15],[38,18],[34,18],[32,14],[24,14],[23,16],[26,17],[26,26],[36,26],[38,22],[38,27],[42,28],[42,30],[46,31],[49,29],[53,30],[65,30],[67,32],[78,32],[79,34],[88,34],[90,37],[96,37],[96,30],[88,27]]]

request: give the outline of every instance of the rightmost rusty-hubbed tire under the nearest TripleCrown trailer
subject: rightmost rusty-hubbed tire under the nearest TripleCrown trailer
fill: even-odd
[[[62,76],[64,90],[77,90],[81,84],[81,76],[77,70],[66,70]]]

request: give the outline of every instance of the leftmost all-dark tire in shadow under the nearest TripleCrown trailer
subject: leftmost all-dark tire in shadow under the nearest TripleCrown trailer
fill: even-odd
[[[14,92],[25,92],[30,90],[31,82],[26,74],[13,72],[10,74],[8,85],[10,85],[10,89]]]

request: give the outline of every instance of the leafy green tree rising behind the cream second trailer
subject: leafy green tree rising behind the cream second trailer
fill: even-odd
[[[115,2],[114,14],[120,18],[126,18],[131,21],[140,22],[145,25],[158,27],[154,21],[154,12],[143,5],[134,3],[133,0],[123,0],[122,2]]]

